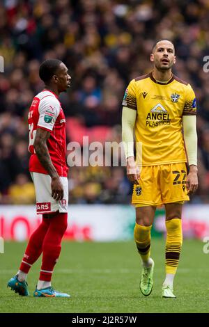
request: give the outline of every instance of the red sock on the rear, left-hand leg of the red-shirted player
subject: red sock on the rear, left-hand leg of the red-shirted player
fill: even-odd
[[[32,264],[38,260],[42,253],[42,242],[47,234],[49,228],[50,218],[46,218],[47,215],[42,215],[42,223],[33,232],[29,239],[28,246],[26,247],[22,263],[20,264],[20,270],[24,273],[28,273]]]

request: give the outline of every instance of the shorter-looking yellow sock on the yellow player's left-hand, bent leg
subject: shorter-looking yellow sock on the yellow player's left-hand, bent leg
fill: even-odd
[[[136,223],[134,227],[134,240],[137,244],[137,250],[139,255],[141,255],[141,260],[146,262],[150,257],[150,226],[141,226]]]

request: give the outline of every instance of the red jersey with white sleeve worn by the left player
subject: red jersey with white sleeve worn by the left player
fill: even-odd
[[[50,131],[51,136],[47,140],[47,147],[52,163],[59,176],[66,177],[68,167],[66,165],[66,139],[65,139],[65,115],[61,108],[58,97],[49,90],[43,90],[33,98],[28,116],[29,122],[29,171],[49,175],[40,163],[33,143],[37,128]]]

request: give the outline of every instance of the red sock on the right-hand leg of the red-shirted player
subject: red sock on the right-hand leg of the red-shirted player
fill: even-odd
[[[61,240],[68,225],[68,214],[50,215],[50,225],[42,244],[42,266],[39,280],[49,282],[61,252]]]

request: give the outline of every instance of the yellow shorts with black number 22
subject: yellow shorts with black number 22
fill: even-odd
[[[132,204],[143,207],[188,201],[186,178],[186,163],[144,166],[139,185],[134,184]]]

